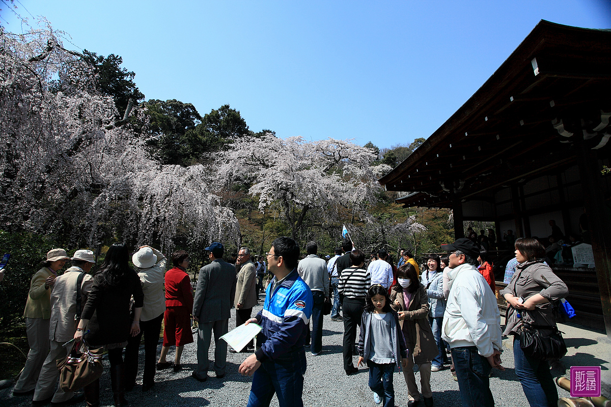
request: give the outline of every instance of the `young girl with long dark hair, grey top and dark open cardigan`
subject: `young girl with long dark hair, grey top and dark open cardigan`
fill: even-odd
[[[395,406],[392,376],[396,366],[405,367],[408,350],[399,326],[397,312],[390,308],[388,290],[381,284],[371,286],[360,324],[359,363],[369,366],[369,387],[373,400],[384,407]]]

